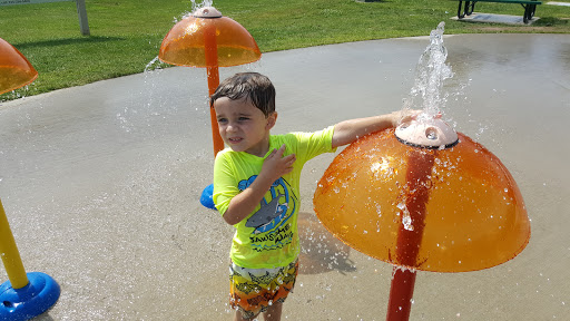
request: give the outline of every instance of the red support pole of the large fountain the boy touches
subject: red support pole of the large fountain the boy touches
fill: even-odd
[[[410,215],[410,224],[404,222],[397,233],[396,259],[404,266],[416,266],[417,254],[425,227],[425,206],[430,198],[430,177],[435,158],[435,150],[416,149],[407,159],[405,208],[400,216]],[[387,321],[406,321],[410,319],[415,284],[415,271],[394,266],[394,279],[390,289],[386,313]]]

